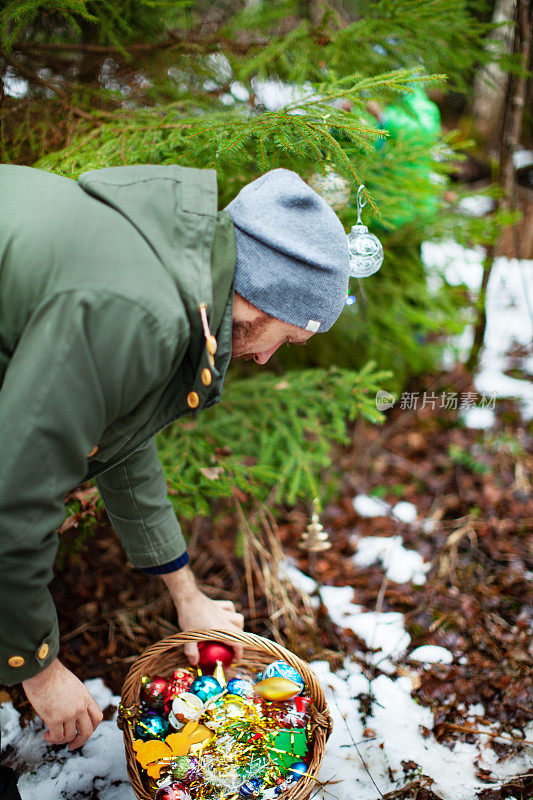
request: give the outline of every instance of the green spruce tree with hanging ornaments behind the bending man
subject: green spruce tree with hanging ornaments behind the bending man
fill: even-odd
[[[355,223],[357,189],[367,187],[364,221],[379,233],[385,262],[366,282],[354,281],[358,302],[329,334],[274,364],[312,369],[283,379],[275,373],[233,379],[216,413],[195,423],[195,436],[188,435],[190,423],[178,423],[161,437],[183,513],[205,511],[208,498],[235,488],[266,497],[275,487],[278,501],[312,497],[330,463],[330,442],[343,441],[358,414],[380,421],[376,390],[398,392],[410,376],[434,368],[444,336],[465,324],[463,293],[445,280],[430,291],[420,257],[423,238],[444,223],[447,233],[451,225],[472,236],[445,199],[457,136],[430,142],[400,135],[383,147],[387,133],[371,109],[390,106],[417,85],[467,92],[474,66],[489,57],[483,43],[491,26],[480,5],[4,3],[2,161],[74,178],[135,163],[211,167],[220,207],[275,167],[304,179],[334,170],[351,192],[339,210],[347,231]],[[300,94],[268,110],[258,95],[261,82],[271,80]],[[408,221],[400,213],[406,203],[416,212]],[[484,230],[477,238],[493,235]],[[281,380],[286,388],[279,388]],[[254,436],[242,435],[247,429]],[[192,487],[194,500],[187,499]]]

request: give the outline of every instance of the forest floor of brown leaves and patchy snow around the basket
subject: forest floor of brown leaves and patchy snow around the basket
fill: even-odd
[[[473,388],[458,370],[410,389],[450,386]],[[355,425],[334,468],[341,488],[322,513],[332,547],[310,559],[298,546],[308,510],[282,511],[274,600],[254,579],[264,566],[260,548],[247,551],[248,564],[235,556],[233,506],[221,506],[216,521],[197,521],[189,543],[208,594],[232,599],[247,630],[281,637],[316,665],[335,723],[320,796],[531,797],[533,453],[516,407],[499,400],[487,430],[467,427],[458,411],[393,408],[380,427]],[[117,755],[113,695],[137,655],[176,631],[162,584],[128,566],[95,491],[87,486],[77,497],[82,508],[62,533],[51,588],[61,658],[82,680],[104,681],[110,691],[90,685],[109,722],[100,726],[100,751],[90,740],[76,758],[42,742],[21,691],[2,692],[5,757],[23,774],[23,800],[37,787],[42,800],[133,797]],[[276,597],[285,601],[273,623]],[[420,651],[425,645],[433,647]],[[22,745],[30,732],[38,747]],[[84,753],[92,757],[82,779]]]

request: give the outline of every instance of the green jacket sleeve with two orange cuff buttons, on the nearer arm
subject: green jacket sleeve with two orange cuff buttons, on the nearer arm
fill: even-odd
[[[57,655],[48,584],[64,497],[106,427],[166,379],[176,335],[91,290],[56,295],[26,322],[0,390],[0,683]]]

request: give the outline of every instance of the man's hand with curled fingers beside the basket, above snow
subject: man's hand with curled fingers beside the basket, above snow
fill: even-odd
[[[59,659],[22,683],[26,697],[48,730],[50,744],[66,744],[75,750],[85,744],[103,714],[83,683]]]

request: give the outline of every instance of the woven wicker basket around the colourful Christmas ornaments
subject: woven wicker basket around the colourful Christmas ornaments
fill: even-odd
[[[305,661],[275,642],[263,639],[262,636],[256,636],[253,633],[230,633],[221,630],[188,631],[167,636],[148,647],[128,672],[122,690],[118,724],[124,734],[128,775],[133,791],[139,800],[152,800],[152,795],[148,794],[141,780],[139,764],[133,751],[132,726],[127,723],[127,720],[134,719],[139,715],[141,678],[143,675],[161,675],[168,678],[177,667],[189,666],[183,646],[187,642],[201,641],[225,641],[228,644],[244,645],[242,661],[232,664],[226,671],[228,676],[239,667],[262,669],[276,659],[286,661],[298,670],[312,698],[310,705],[311,735],[309,738],[309,751],[312,753],[312,758],[307,775],[297,781],[291,789],[287,789],[283,794],[283,799],[307,800],[313,789],[316,789],[317,784],[314,778],[318,776],[325,744],[332,727],[324,693],[316,676]]]

